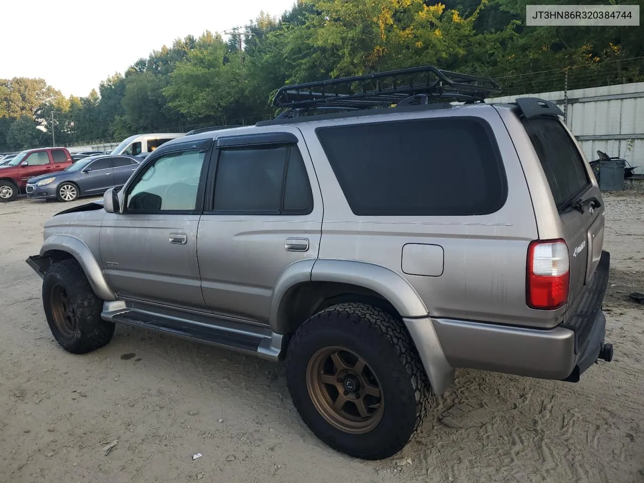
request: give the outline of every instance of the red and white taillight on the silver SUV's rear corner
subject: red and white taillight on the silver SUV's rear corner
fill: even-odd
[[[564,240],[536,240],[527,249],[526,303],[554,310],[568,301],[570,259]]]

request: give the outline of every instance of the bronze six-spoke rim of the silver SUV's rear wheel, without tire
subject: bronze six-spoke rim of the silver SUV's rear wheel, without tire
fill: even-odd
[[[312,355],[307,390],[317,412],[345,433],[368,433],[383,418],[384,397],[374,372],[346,348],[323,347]]]

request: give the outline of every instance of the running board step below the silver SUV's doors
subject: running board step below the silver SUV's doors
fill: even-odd
[[[229,348],[237,352],[259,355],[263,359],[278,361],[281,352],[281,336],[279,334],[252,333],[227,327],[218,327],[191,321],[184,317],[167,317],[160,314],[150,314],[139,310],[121,310],[111,312],[104,307],[101,314],[103,319],[115,323],[144,327],[156,332],[191,339],[213,346]],[[215,319],[213,319],[214,322]]]

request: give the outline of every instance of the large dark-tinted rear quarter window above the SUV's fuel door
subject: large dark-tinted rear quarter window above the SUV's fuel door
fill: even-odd
[[[316,133],[354,214],[480,215],[506,201],[498,147],[478,119],[355,124]]]

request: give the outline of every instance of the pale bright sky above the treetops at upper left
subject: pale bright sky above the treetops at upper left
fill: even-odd
[[[278,16],[296,0],[32,0],[2,2],[0,79],[41,77],[86,96],[164,44]],[[11,19],[11,21],[6,21]]]

